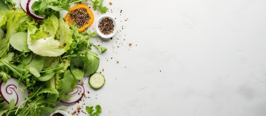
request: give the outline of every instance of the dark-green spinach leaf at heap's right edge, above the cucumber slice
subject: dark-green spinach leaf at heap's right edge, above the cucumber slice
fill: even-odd
[[[84,70],[86,74],[90,75],[97,71],[100,60],[95,52],[88,51],[88,53],[85,54],[85,57],[81,60],[84,63]]]

